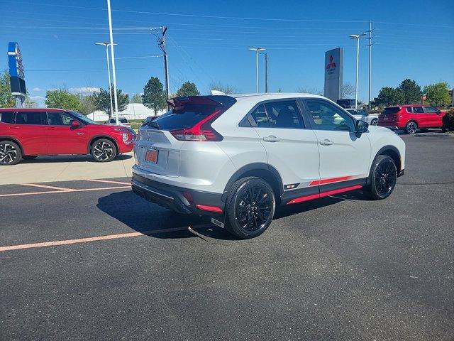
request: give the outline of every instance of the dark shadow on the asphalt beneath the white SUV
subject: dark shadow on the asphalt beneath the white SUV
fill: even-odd
[[[335,205],[345,200],[367,200],[360,190],[341,195],[323,197],[301,204],[278,207],[274,220],[289,215],[309,212]],[[110,193],[98,199],[96,207],[131,229],[160,239],[209,237],[221,240],[238,240],[225,229],[211,223],[209,217],[181,215],[160,207],[135,195],[132,190]],[[191,227],[191,229],[189,229]]]

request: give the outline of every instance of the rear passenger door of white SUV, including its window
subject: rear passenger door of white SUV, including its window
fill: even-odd
[[[250,113],[250,122],[265,147],[267,161],[284,185],[283,200],[318,193],[309,183],[319,178],[319,146],[308,129],[296,99],[263,102]]]

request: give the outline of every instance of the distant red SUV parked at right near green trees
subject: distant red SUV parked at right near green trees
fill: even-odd
[[[404,129],[406,134],[414,134],[418,129],[441,128],[444,114],[427,105],[387,107],[378,117],[378,125],[389,129]]]

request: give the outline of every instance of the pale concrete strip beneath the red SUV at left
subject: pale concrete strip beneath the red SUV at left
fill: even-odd
[[[41,156],[15,166],[0,166],[0,185],[131,177],[133,153],[101,163],[92,156]]]

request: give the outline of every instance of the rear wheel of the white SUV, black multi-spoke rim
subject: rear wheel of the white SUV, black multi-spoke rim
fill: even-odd
[[[261,178],[242,178],[233,184],[226,202],[226,229],[241,239],[257,237],[270,227],[276,199]]]

